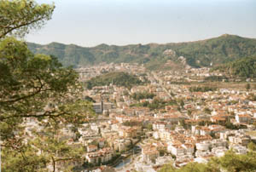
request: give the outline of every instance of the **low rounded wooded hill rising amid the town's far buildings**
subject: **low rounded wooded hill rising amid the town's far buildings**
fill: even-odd
[[[134,85],[143,84],[143,81],[141,81],[139,77],[126,72],[109,72],[91,78],[85,83],[85,87],[87,89],[92,89],[96,86],[110,85],[111,83],[113,83],[113,85],[123,86],[131,89],[131,87]]]

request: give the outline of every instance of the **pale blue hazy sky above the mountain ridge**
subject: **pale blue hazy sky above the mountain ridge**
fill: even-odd
[[[256,0],[38,0],[52,19],[26,36],[32,43],[179,43],[222,34],[256,38]]]

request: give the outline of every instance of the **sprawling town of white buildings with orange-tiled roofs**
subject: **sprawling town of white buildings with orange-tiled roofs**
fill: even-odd
[[[70,126],[60,134],[68,144],[84,147],[84,160],[73,162],[84,171],[154,172],[166,163],[180,168],[189,162],[207,163],[230,149],[245,154],[256,140],[256,91],[250,83],[241,87],[221,79],[219,87],[211,82],[212,87],[205,86],[205,78],[222,77],[209,68],[147,72],[144,66],[121,63],[76,71],[81,82],[108,72],[148,81],[131,89],[113,83],[84,89],[82,96],[94,100],[96,118],[76,132]],[[253,84],[252,79],[247,82]],[[26,128],[28,133],[40,129],[33,121]]]

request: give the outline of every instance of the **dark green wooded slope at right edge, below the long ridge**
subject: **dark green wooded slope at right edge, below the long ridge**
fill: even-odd
[[[256,56],[246,57],[239,60],[235,60],[223,66],[215,68],[222,72],[227,72],[231,76],[235,77],[256,77]]]

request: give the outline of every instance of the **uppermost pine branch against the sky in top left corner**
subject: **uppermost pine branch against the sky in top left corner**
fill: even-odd
[[[8,34],[23,37],[29,30],[44,26],[54,9],[54,5],[38,5],[33,0],[0,1],[0,39]]]

